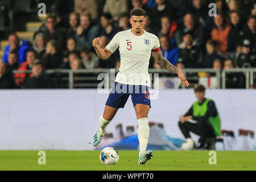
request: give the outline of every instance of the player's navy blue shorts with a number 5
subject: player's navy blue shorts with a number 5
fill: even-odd
[[[114,108],[123,108],[131,95],[133,106],[137,104],[150,105],[150,93],[148,86],[144,85],[126,85],[115,82],[106,105]]]

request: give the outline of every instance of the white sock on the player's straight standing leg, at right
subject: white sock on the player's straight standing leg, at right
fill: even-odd
[[[143,152],[146,152],[146,149],[147,149],[149,126],[148,126],[147,118],[138,119],[138,123],[139,123],[138,139],[139,139],[139,156],[140,156]]]

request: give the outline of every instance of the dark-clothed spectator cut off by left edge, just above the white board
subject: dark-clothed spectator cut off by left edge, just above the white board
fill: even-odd
[[[5,63],[0,63],[0,89],[13,88],[15,88],[13,74],[7,71]]]

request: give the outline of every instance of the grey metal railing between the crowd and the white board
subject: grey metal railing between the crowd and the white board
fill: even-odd
[[[199,73],[206,73],[208,74],[214,74],[217,78],[217,89],[225,89],[226,88],[226,74],[227,73],[243,73],[245,75],[245,88],[249,89],[251,85],[254,85],[254,77],[256,73],[256,68],[234,68],[234,69],[197,69],[197,68],[191,68],[191,69],[182,69],[184,76],[189,80],[189,81],[197,81],[199,80]],[[13,71],[13,73],[31,73],[31,71]],[[47,74],[52,74],[52,73],[63,73],[66,76],[61,78],[61,81],[68,81],[67,88],[73,89],[73,88],[97,88],[98,82],[102,81],[102,77],[98,77],[100,73],[105,73],[108,75],[109,78],[112,78],[113,74],[117,74],[118,71],[114,69],[77,69],[77,70],[72,70],[72,69],[48,69],[46,70]],[[89,83],[74,83],[74,75],[75,74],[85,74],[84,76],[80,76],[78,80],[80,81],[89,81]],[[165,75],[168,77],[177,77],[174,73],[170,73],[164,69],[148,69],[148,73],[158,73],[161,77],[161,75]],[[208,75],[209,76],[209,75]],[[108,88],[112,87],[113,79],[108,80]],[[192,84],[193,85],[193,84]],[[184,88],[182,86],[182,88]]]

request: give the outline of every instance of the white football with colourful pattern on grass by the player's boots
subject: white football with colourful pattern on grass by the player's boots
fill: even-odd
[[[113,147],[106,147],[100,153],[102,164],[116,164],[119,160],[119,154]]]

